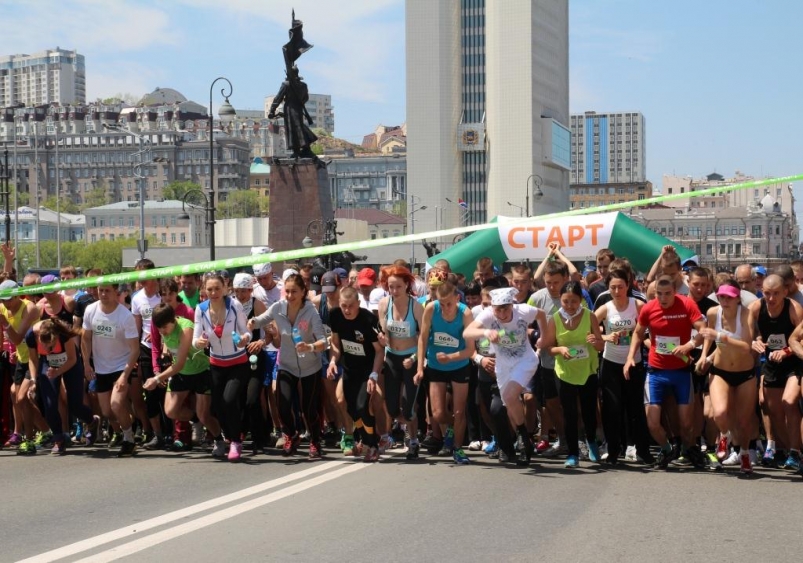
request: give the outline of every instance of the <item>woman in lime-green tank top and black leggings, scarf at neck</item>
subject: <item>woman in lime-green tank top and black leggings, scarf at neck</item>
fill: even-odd
[[[544,341],[546,349],[555,356],[558,395],[563,407],[563,424],[569,456],[566,467],[580,465],[578,446],[577,401],[588,437],[588,458],[599,461],[597,433],[597,366],[602,340],[599,323],[592,322],[592,313],[582,306],[583,288],[569,282],[560,290],[561,307],[548,319]]]

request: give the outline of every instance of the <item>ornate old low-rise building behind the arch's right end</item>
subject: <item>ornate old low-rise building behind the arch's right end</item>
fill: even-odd
[[[778,265],[798,257],[794,215],[769,206],[634,209],[630,217],[694,250],[701,265],[733,271],[744,263]]]

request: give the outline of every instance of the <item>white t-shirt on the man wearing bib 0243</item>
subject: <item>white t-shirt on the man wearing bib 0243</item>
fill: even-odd
[[[84,311],[83,328],[92,331],[95,372],[109,374],[123,371],[131,353],[128,340],[139,336],[131,311],[123,305],[117,305],[113,313],[106,314],[100,308],[100,301],[96,301]]]

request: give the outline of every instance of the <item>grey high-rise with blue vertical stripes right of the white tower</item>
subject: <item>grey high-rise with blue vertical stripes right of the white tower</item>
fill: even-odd
[[[647,181],[646,130],[638,112],[572,115],[574,184]]]

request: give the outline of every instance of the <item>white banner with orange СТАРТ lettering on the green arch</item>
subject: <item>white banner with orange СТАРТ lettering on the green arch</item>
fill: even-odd
[[[618,216],[613,212],[525,223],[520,218],[499,217],[499,240],[508,260],[543,260],[553,242],[567,258],[593,258],[601,248],[610,247]]]

